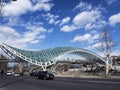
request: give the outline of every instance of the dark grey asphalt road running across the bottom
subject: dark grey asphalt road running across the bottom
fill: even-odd
[[[120,79],[61,78],[38,80],[29,76],[1,76],[0,90],[120,90]]]

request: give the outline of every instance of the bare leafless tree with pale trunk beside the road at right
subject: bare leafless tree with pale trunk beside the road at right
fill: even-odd
[[[97,49],[106,56],[106,76],[109,73],[109,63],[111,53],[115,50],[117,43],[113,40],[108,29],[104,28],[100,34],[99,45]]]

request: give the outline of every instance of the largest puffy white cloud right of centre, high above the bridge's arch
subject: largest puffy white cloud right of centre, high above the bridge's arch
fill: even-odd
[[[97,10],[83,11],[74,17],[71,25],[62,26],[61,31],[72,32],[80,28],[85,29],[98,28],[104,24],[103,20],[101,20],[100,18],[101,18],[100,11]]]

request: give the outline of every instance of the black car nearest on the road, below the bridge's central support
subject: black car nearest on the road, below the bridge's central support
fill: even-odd
[[[37,78],[44,80],[54,79],[54,75],[48,71],[39,71],[37,74]]]

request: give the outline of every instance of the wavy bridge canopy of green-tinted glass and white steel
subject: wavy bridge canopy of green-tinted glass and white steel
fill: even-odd
[[[56,64],[58,59],[66,54],[76,54],[83,57],[92,58],[98,63],[105,64],[105,60],[102,57],[91,51],[81,48],[57,47],[41,51],[27,51],[9,46],[4,43],[1,45],[1,48],[11,58],[20,58],[34,65],[41,66],[43,70],[46,70],[48,66]]]

